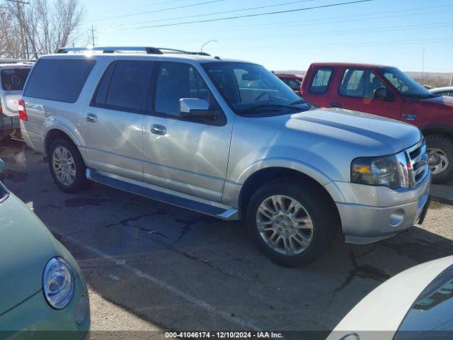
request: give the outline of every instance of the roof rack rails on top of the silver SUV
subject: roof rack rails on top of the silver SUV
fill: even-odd
[[[77,53],[77,52],[102,52],[102,53],[121,53],[121,52],[143,52],[147,55],[164,55],[164,54],[180,54],[180,55],[205,55],[210,56],[205,52],[188,52],[183,50],[174,50],[166,47],[62,47],[57,50],[57,53]]]

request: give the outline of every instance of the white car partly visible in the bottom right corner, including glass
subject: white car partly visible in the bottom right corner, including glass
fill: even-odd
[[[453,256],[399,273],[360,301],[328,340],[452,339]]]

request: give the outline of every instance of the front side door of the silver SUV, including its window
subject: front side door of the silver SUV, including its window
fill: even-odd
[[[200,72],[183,62],[159,62],[144,118],[144,178],[156,186],[220,202],[226,178],[232,121],[219,107]],[[181,98],[210,103],[217,118],[183,118]]]

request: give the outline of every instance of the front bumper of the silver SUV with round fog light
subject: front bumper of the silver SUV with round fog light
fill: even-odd
[[[413,227],[428,203],[430,182],[428,174],[411,189],[392,190],[348,183],[348,190],[343,193],[347,192],[352,203],[336,203],[345,241],[368,244]],[[345,183],[340,186],[344,187]]]

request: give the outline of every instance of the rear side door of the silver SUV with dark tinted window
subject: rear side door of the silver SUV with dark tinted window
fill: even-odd
[[[81,126],[88,166],[143,180],[143,120],[154,61],[117,60],[105,69]]]

